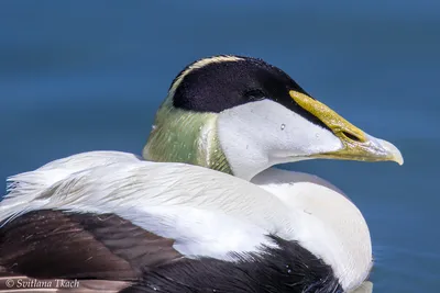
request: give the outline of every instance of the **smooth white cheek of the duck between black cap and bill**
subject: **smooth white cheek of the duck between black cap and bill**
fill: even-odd
[[[234,172],[252,168],[251,164],[260,172],[275,164],[306,159],[308,155],[342,147],[330,131],[271,100],[221,112],[218,131],[220,144]]]

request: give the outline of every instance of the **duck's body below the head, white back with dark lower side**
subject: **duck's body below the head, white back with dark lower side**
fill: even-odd
[[[292,283],[299,282],[299,279],[294,278],[295,275],[301,275],[300,285],[297,286],[298,292],[301,292],[310,283],[317,288],[327,288],[328,291],[322,292],[332,292],[334,289],[342,290],[342,285],[348,286],[341,280],[351,282],[354,280],[354,282],[362,283],[371,267],[371,250],[367,250],[371,249],[370,241],[362,239],[362,237],[369,237],[369,229],[362,214],[356,213],[358,209],[343,195],[336,195],[338,193],[323,185],[324,181],[307,174],[298,176],[296,182],[273,181],[273,176],[276,176],[278,180],[283,179],[278,172],[283,172],[285,179],[295,174],[277,169],[267,170],[266,176],[262,173],[255,178],[255,181],[261,184],[258,187],[240,178],[206,168],[184,164],[144,161],[132,154],[118,151],[84,153],[50,162],[35,171],[11,178],[10,193],[0,205],[3,256],[0,258],[0,266],[11,273],[22,273],[34,278],[72,279],[80,273],[80,277],[87,280],[105,279],[109,275],[114,279],[116,275],[121,274],[118,267],[106,267],[110,272],[100,275],[96,274],[95,270],[99,270],[94,269],[94,263],[87,261],[90,257],[97,260],[100,258],[107,260],[109,256],[114,258],[114,252],[109,256],[97,256],[79,250],[79,253],[84,255],[78,256],[75,253],[76,248],[74,249],[72,246],[91,246],[95,249],[103,246],[110,250],[118,250],[121,249],[118,245],[125,249],[127,246],[132,248],[134,244],[130,241],[147,243],[150,238],[131,237],[133,228],[136,228],[147,236],[152,235],[168,241],[168,247],[165,248],[173,253],[168,250],[163,251],[166,256],[164,262],[170,261],[167,259],[169,256],[179,259],[185,256],[185,259],[194,260],[177,267],[169,267],[170,271],[179,272],[180,268],[186,268],[197,272],[200,269],[209,274],[215,273],[215,268],[240,271],[245,267],[255,267],[254,273],[260,272],[267,278],[271,275],[273,280],[276,280],[274,282],[277,286],[283,284],[282,279],[287,278],[287,272],[290,271],[293,273]],[[314,184],[317,190],[309,189],[310,183],[306,180],[310,179],[316,181]],[[266,184],[267,181],[271,184]],[[205,183],[196,184],[198,182]],[[298,185],[295,184],[301,183],[308,184],[309,188],[304,191],[298,189],[297,192]],[[314,210],[314,206],[318,205],[308,204],[307,200],[295,199],[296,195],[310,199],[309,192],[315,193],[320,188],[328,190],[328,194],[324,196],[333,194],[337,198],[340,196],[345,205],[351,204],[351,209],[358,214],[358,222],[362,222],[362,225],[356,222],[356,234],[344,235],[345,229],[340,229],[342,226],[336,226],[338,228],[334,229],[334,221],[328,222],[330,218],[328,215],[331,214],[329,211],[320,213],[320,211]],[[284,193],[272,193],[275,189],[283,189]],[[346,206],[339,207],[346,211]],[[333,218],[341,224],[353,221],[352,215],[350,218],[336,215],[337,213],[333,214]],[[102,222],[98,222],[99,225],[97,225],[96,222],[99,218]],[[109,223],[108,226],[106,222]],[[62,223],[65,223],[65,226]],[[122,226],[120,226],[121,223],[123,223]],[[87,225],[89,227],[85,228]],[[72,226],[80,227],[77,241],[72,238]],[[346,226],[343,227],[346,228]],[[120,232],[123,229],[128,229],[128,233]],[[106,237],[109,236],[100,234],[100,230],[110,235],[116,234],[117,239],[112,237],[107,239]],[[81,243],[85,241],[82,238],[87,238],[81,235],[86,232],[89,233],[88,237],[91,234],[94,238],[97,238],[95,235],[97,234],[99,243]],[[55,235],[52,236],[52,234]],[[138,236],[138,234],[135,235]],[[341,238],[345,236],[350,237]],[[23,238],[30,240],[23,241]],[[124,243],[123,239],[128,239],[128,243]],[[346,244],[350,239],[354,239],[355,247],[339,249],[340,243]],[[157,239],[155,240],[157,241]],[[111,241],[119,243],[108,245]],[[366,252],[360,249],[365,245]],[[29,247],[47,249],[47,246],[51,246],[52,250],[51,257],[45,255],[47,258],[45,261],[58,263],[62,267],[46,264],[47,268],[51,268],[50,271],[44,272],[43,270],[44,273],[40,274],[41,267],[35,267],[33,263],[42,262],[41,259],[34,259],[35,257],[41,258],[41,251],[28,249]],[[63,250],[56,253],[55,248],[57,247],[67,251]],[[156,246],[150,248],[148,245],[145,245],[145,249],[157,248]],[[21,257],[24,253],[25,261],[14,258],[16,252],[12,253],[11,251],[21,251],[18,253]],[[286,255],[286,251],[290,252]],[[161,253],[162,251],[156,251],[156,255]],[[266,256],[267,259],[264,258]],[[154,259],[156,258],[161,259],[158,256],[154,257]],[[204,258],[204,260],[196,261],[199,258]],[[72,259],[82,259],[82,262],[73,262]],[[355,261],[350,262],[346,261],[348,259]],[[174,263],[174,261],[172,262]],[[268,266],[268,262],[274,263]],[[14,267],[13,263],[22,264]],[[118,282],[111,283],[111,285],[120,286],[120,282],[128,281],[130,284],[136,284],[134,280],[142,277],[141,269],[147,267],[148,263],[145,260],[141,261],[139,272],[130,271],[130,278],[123,278],[124,275],[121,274],[117,278]],[[362,266],[362,263],[364,264]],[[99,261],[98,264],[103,266]],[[311,264],[314,266],[310,267]],[[274,266],[279,270],[264,270],[264,268],[274,268]],[[282,270],[279,266],[285,266],[285,268]],[[208,270],[207,267],[210,269]],[[78,268],[80,271],[75,271]],[[305,271],[299,273],[296,271],[299,268]],[[308,274],[306,268],[311,270],[316,268],[317,272]],[[58,274],[58,271],[65,271],[65,273]],[[337,274],[341,272],[345,272],[345,274]],[[200,274],[197,272],[195,275]],[[228,279],[231,275],[233,274],[223,275],[224,279],[221,282],[224,285],[237,285]],[[258,284],[261,285],[263,275],[254,279],[255,277],[257,275],[246,275],[243,280],[239,278],[237,281],[251,286],[257,285],[252,280],[260,280]],[[305,277],[316,278],[316,280],[311,282],[310,279],[309,282],[301,279]],[[146,275],[142,278],[144,278],[141,279],[142,282],[150,280]],[[195,284],[197,284],[197,280],[200,280],[200,277],[193,280]],[[326,282],[318,284],[319,280]],[[286,283],[286,290],[292,290],[292,285],[288,284]],[[161,286],[166,288],[165,292],[173,292],[167,291],[167,285],[173,284],[162,284]],[[134,286],[142,286],[142,284]],[[176,285],[176,288],[178,286]],[[217,290],[220,289],[217,288]]]

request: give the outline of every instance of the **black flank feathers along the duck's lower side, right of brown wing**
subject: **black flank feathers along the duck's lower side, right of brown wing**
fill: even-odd
[[[233,263],[185,260],[145,272],[123,293],[341,293],[332,269],[297,241],[268,236],[278,246],[240,255]]]

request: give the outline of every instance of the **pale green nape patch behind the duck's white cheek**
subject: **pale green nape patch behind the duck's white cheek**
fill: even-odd
[[[169,95],[156,113],[142,156],[151,161],[185,162],[232,174],[218,139],[217,114],[176,109]]]

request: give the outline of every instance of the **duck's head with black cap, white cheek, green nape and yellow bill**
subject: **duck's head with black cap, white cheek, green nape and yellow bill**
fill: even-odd
[[[156,113],[143,157],[250,180],[306,159],[396,161],[391,143],[361,131],[262,59],[215,56],[187,66]]]

